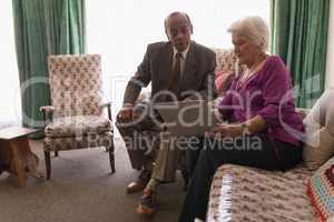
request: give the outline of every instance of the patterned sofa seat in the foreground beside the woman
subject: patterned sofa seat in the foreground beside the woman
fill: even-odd
[[[207,221],[316,221],[306,193],[312,174],[302,164],[286,172],[224,164],[214,175]]]

